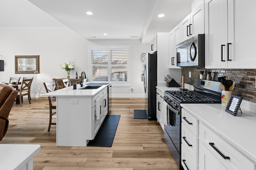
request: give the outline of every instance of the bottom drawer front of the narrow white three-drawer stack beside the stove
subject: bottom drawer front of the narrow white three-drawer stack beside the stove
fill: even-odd
[[[183,145],[184,143],[181,144],[181,148],[184,148]],[[195,164],[186,149],[181,149],[181,164],[184,170],[198,170],[198,165]]]

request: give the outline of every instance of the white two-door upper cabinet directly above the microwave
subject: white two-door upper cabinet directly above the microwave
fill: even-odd
[[[181,42],[204,33],[204,2],[180,22]]]

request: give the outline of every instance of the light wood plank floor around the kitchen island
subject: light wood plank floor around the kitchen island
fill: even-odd
[[[56,125],[47,131],[48,99],[31,102],[14,103],[0,144],[40,144],[34,170],[178,170],[159,123],[133,119],[133,110],[144,108],[142,98],[112,100],[109,114],[121,115],[112,147],[56,147]]]

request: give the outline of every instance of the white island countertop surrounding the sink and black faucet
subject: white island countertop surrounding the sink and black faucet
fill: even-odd
[[[87,84],[90,82],[86,82],[86,84],[84,84],[83,88],[85,86],[88,86]],[[103,90],[104,88],[107,88],[107,86],[111,84],[108,83],[106,85],[102,85],[100,88],[98,89],[80,89],[82,87],[80,87],[80,84],[76,85],[76,90],[73,90],[73,86],[70,87],[66,87],[66,88],[62,88],[59,90],[55,90],[53,92],[49,92],[49,93],[45,93],[42,94],[42,96],[56,96],[56,97],[92,97],[94,95],[96,95],[98,92],[100,92],[101,90]]]

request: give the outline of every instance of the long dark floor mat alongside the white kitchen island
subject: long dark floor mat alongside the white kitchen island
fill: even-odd
[[[112,147],[116,129],[121,115],[106,115],[94,140],[90,140],[88,147]]]

